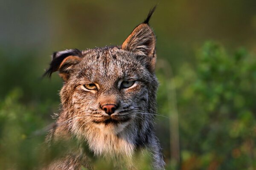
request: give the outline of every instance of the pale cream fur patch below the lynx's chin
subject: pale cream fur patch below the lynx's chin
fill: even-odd
[[[96,124],[86,132],[90,150],[97,156],[127,156],[132,157],[135,144],[132,136],[125,132],[128,123],[119,125]]]

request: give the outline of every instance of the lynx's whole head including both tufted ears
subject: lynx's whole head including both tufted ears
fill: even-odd
[[[59,71],[59,119],[76,136],[93,128],[119,134],[128,127],[151,126],[157,79],[155,35],[148,25],[152,10],[120,46],[55,52],[46,74]],[[96,135],[96,134],[95,134]]]

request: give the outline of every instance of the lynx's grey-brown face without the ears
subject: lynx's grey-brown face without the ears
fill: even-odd
[[[61,90],[62,105],[73,110],[67,118],[76,117],[71,127],[79,133],[87,126],[119,133],[132,121],[143,119],[140,113],[147,113],[148,89],[157,85],[145,63],[117,47],[82,55]]]

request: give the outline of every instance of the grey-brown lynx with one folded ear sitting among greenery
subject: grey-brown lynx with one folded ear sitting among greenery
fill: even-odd
[[[133,157],[144,150],[150,153],[153,169],[164,169],[154,133],[156,38],[148,24],[154,9],[120,46],[70,49],[52,55],[45,75],[59,71],[64,83],[57,126],[47,136],[49,144],[77,139],[86,142],[94,157],[115,159],[116,164],[128,160],[128,169],[136,168],[131,165]],[[93,168],[87,153],[79,147],[46,169]]]

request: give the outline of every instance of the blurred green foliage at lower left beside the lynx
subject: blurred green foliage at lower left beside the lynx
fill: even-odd
[[[23,92],[15,88],[0,103],[0,169],[31,169],[38,162],[36,147],[42,142],[29,139],[45,122],[43,114],[19,102]]]

